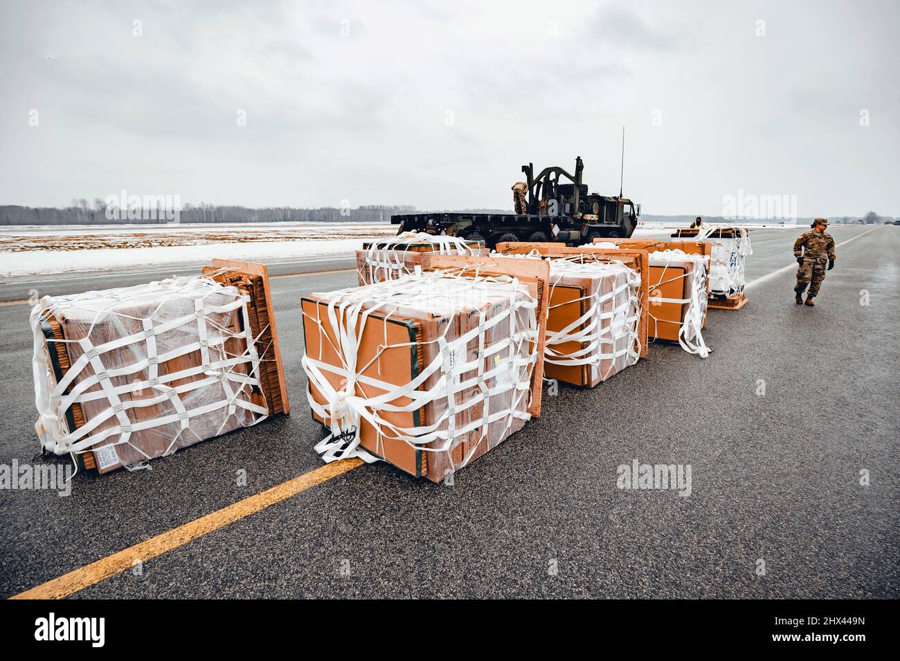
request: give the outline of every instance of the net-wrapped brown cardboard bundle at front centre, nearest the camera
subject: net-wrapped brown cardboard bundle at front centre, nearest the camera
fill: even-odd
[[[326,460],[387,460],[440,481],[530,418],[536,301],[509,277],[425,273],[302,299]]]

